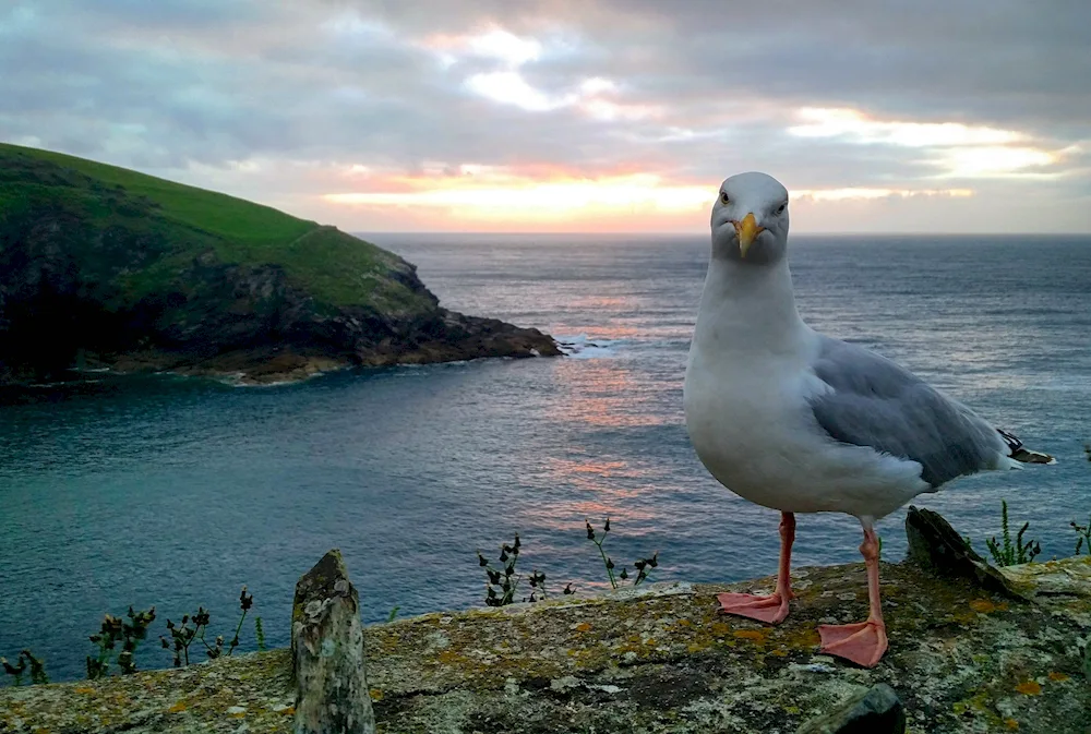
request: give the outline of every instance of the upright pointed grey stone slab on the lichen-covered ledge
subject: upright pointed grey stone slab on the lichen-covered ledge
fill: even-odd
[[[296,583],[291,663],[296,734],[374,734],[360,598],[336,549]]]

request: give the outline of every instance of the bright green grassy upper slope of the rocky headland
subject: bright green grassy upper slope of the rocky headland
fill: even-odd
[[[161,262],[127,276],[136,298],[161,287],[164,272],[211,249],[221,263],[283,266],[290,282],[332,304],[423,305],[405,285],[380,277],[398,266],[397,255],[334,228],[125,168],[0,143],[0,210],[11,216],[47,202],[97,227],[159,239]],[[357,277],[345,278],[346,270]]]

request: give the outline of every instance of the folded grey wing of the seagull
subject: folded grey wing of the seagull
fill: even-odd
[[[832,438],[918,461],[933,488],[996,468],[1007,456],[996,429],[962,404],[888,359],[822,338],[812,366],[832,389],[811,407]]]

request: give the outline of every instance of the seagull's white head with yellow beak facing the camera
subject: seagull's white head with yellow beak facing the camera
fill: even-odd
[[[771,265],[788,251],[788,189],[765,173],[739,173],[720,184],[712,205],[712,256]]]

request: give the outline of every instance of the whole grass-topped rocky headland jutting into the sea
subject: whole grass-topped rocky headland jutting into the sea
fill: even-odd
[[[0,383],[558,354],[442,309],[393,253],[267,207],[0,145]]]

